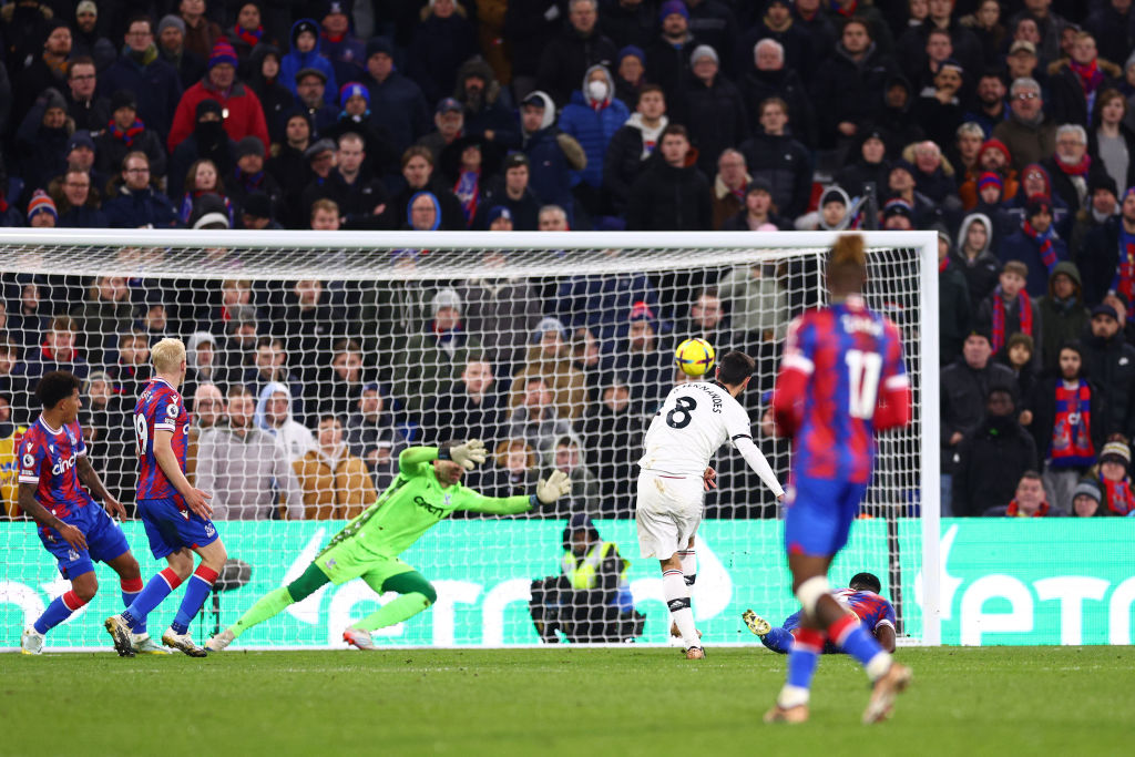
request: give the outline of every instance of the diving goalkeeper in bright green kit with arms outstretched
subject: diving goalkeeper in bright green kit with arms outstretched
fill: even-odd
[[[541,503],[550,505],[571,490],[561,472],[536,486],[531,496],[485,497],[461,485],[461,476],[485,462],[485,445],[447,441],[440,447],[411,447],[398,456],[398,476],[379,498],[330,540],[303,575],[264,595],[233,626],[205,642],[219,651],[253,625],[267,621],[321,586],[338,586],[362,578],[379,595],[398,595],[381,609],[352,623],[343,640],[360,649],[373,649],[370,632],[394,625],[428,608],[437,592],[426,578],[398,560],[422,533],[455,510],[494,515],[515,515]]]

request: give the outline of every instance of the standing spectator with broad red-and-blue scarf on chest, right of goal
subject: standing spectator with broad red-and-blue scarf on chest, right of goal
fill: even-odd
[[[1026,402],[1020,422],[1036,441],[1049,502],[1067,505],[1076,482],[1095,464],[1103,446],[1103,396],[1084,376],[1078,343],[1060,347],[1058,371],[1042,379]]]

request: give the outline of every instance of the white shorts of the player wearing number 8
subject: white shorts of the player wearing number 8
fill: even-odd
[[[704,497],[699,476],[640,472],[634,521],[641,556],[670,560],[679,549],[686,549],[701,524]]]

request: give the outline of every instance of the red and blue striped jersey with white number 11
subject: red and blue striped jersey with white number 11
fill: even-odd
[[[792,321],[773,402],[777,423],[784,419],[793,431],[797,474],[868,482],[876,409],[888,401],[901,402],[900,417],[909,418],[909,379],[893,322],[859,296]]]

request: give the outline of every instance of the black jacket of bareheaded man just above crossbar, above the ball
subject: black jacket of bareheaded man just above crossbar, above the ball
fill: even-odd
[[[713,228],[713,194],[709,182],[695,165],[674,168],[655,155],[631,185],[627,228],[636,232],[707,232]]]

